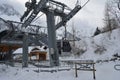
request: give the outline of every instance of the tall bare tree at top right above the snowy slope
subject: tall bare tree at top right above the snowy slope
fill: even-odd
[[[120,11],[118,9],[119,0],[111,0],[106,2],[105,6],[105,27],[111,31],[114,27],[118,27],[120,23]]]

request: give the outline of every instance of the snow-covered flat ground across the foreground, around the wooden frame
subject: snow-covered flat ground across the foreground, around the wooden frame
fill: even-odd
[[[109,62],[96,64],[96,80],[119,80],[120,71],[114,69],[114,65],[120,63]],[[43,68],[39,68],[42,70]],[[47,69],[47,68],[46,68]],[[56,70],[59,67],[55,68]],[[0,64],[0,80],[93,80],[93,74],[90,71],[78,71],[78,77],[75,77],[75,70],[57,71],[57,72],[35,72],[37,67],[29,68],[10,67]]]

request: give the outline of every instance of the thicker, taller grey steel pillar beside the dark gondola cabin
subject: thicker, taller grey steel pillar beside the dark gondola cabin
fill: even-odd
[[[59,54],[56,43],[54,12],[49,11],[46,15],[47,15],[47,26],[48,26],[48,47],[50,54],[50,65],[59,66]]]

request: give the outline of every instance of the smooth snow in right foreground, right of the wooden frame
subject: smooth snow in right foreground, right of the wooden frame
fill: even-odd
[[[119,62],[110,62],[96,65],[96,75],[101,80],[119,80],[120,71],[114,69],[114,65]],[[101,71],[102,70],[102,71]],[[98,80],[99,80],[98,79]]]

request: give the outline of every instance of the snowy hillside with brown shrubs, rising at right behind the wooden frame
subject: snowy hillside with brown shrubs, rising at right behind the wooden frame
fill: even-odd
[[[113,30],[110,34],[100,34],[94,38],[84,38],[87,44],[87,51],[80,57],[81,59],[105,60],[110,59],[113,54],[120,55],[120,29]],[[100,50],[96,51],[96,50]],[[96,52],[95,52],[96,51]]]

